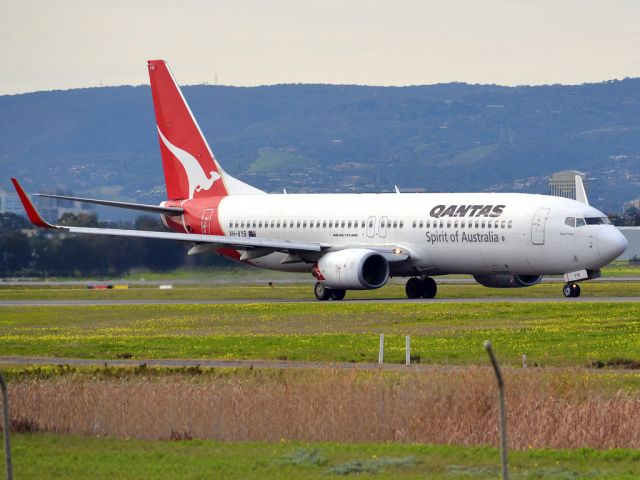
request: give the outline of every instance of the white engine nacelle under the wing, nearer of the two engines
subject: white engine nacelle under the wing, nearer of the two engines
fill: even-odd
[[[389,280],[389,262],[373,250],[339,250],[320,258],[315,275],[329,288],[371,290]]]

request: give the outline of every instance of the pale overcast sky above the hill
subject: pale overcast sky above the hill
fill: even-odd
[[[578,84],[640,76],[637,0],[0,2],[0,94],[148,83]]]

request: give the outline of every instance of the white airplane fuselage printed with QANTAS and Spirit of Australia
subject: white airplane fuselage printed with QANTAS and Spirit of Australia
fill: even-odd
[[[620,234],[610,224],[567,224],[568,218],[606,218],[603,213],[545,195],[233,195],[220,202],[217,213],[229,236],[318,242],[332,250],[401,247],[410,259],[392,264],[393,276],[597,270],[620,249]],[[249,263],[283,271],[312,267],[281,263],[285,256],[276,252]]]

